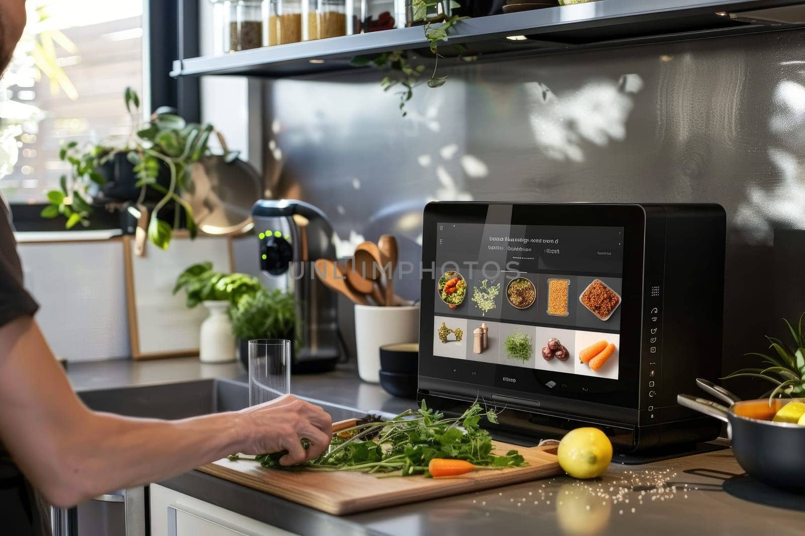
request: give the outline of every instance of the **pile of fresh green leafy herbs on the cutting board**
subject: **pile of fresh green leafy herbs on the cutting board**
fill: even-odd
[[[361,471],[402,476],[427,473],[434,458],[466,460],[481,467],[504,468],[526,465],[517,451],[506,456],[492,454],[492,438],[479,426],[481,417],[497,423],[494,411],[473,403],[457,418],[445,419],[427,408],[403,411],[382,423],[365,423],[336,432],[332,443],[316,460],[298,468],[319,471]],[[277,455],[258,456],[264,467],[280,467]]]

